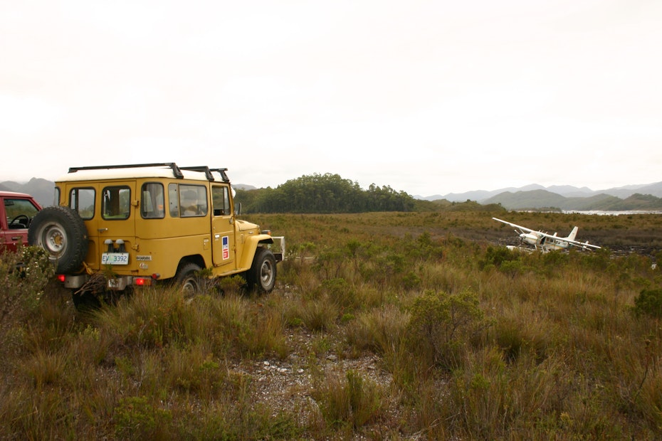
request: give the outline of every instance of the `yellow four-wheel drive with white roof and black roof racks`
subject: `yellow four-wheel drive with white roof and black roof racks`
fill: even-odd
[[[34,216],[28,242],[49,253],[78,294],[98,290],[100,280],[105,291],[168,280],[196,294],[203,269],[211,279],[243,275],[269,292],[285,255],[283,237],[236,218],[226,169],[75,167],[56,180],[56,201]]]

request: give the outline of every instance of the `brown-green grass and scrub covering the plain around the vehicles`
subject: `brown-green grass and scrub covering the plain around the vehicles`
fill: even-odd
[[[606,249],[512,253],[491,216]],[[290,247],[265,297],[228,280],[78,312],[3,255],[0,437],[662,437],[659,216],[253,217]]]

